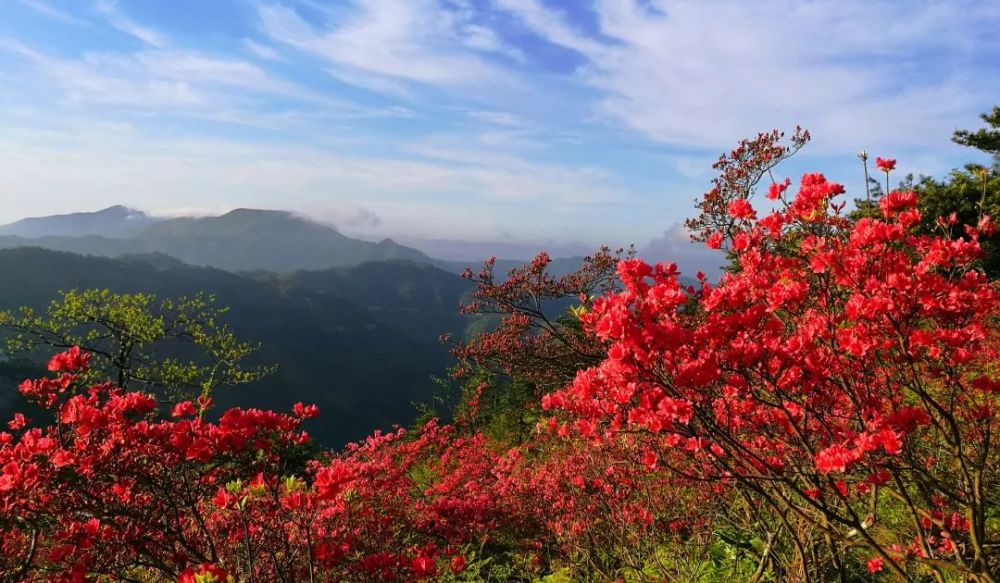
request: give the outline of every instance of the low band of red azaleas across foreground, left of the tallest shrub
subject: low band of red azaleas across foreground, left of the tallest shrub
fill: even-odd
[[[52,393],[25,385],[41,403],[58,396],[55,422],[18,417],[0,434],[5,578],[406,581],[479,568],[484,555],[538,575],[581,549],[697,526],[630,440],[548,431],[497,448],[431,422],[302,460],[298,427],[315,407],[209,422],[208,400],[183,401],[163,417],[151,395],[82,390],[75,353],[53,358],[64,372]]]

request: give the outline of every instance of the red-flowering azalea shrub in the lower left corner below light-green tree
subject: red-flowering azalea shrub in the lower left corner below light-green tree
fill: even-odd
[[[301,418],[233,409],[209,423],[202,399],[163,419],[151,395],[79,386],[88,357],[72,348],[49,362],[58,376],[21,385],[53,423],[17,416],[0,433],[0,572],[128,579],[215,563],[205,502],[217,484],[282,471],[306,440]]]

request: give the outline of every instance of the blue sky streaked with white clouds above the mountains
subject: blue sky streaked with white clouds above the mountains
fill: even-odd
[[[370,237],[642,245],[808,128],[943,175],[1000,103],[1000,2],[0,0],[0,223],[291,210]]]

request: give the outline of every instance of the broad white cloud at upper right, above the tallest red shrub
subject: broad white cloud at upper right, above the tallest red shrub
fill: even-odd
[[[820,150],[932,147],[1000,90],[973,69],[996,4],[598,0],[597,41],[540,0],[494,1],[585,58],[607,119],[679,146],[802,123]]]

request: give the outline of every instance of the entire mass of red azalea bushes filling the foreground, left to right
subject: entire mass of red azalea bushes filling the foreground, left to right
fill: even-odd
[[[717,282],[606,250],[470,272],[499,318],[453,346],[448,424],[317,454],[315,407],[164,406],[55,355],[20,387],[51,421],[0,432],[0,579],[996,581],[993,223],[929,233],[909,191],[847,215],[772,177],[806,138],[720,160],[691,223]]]

